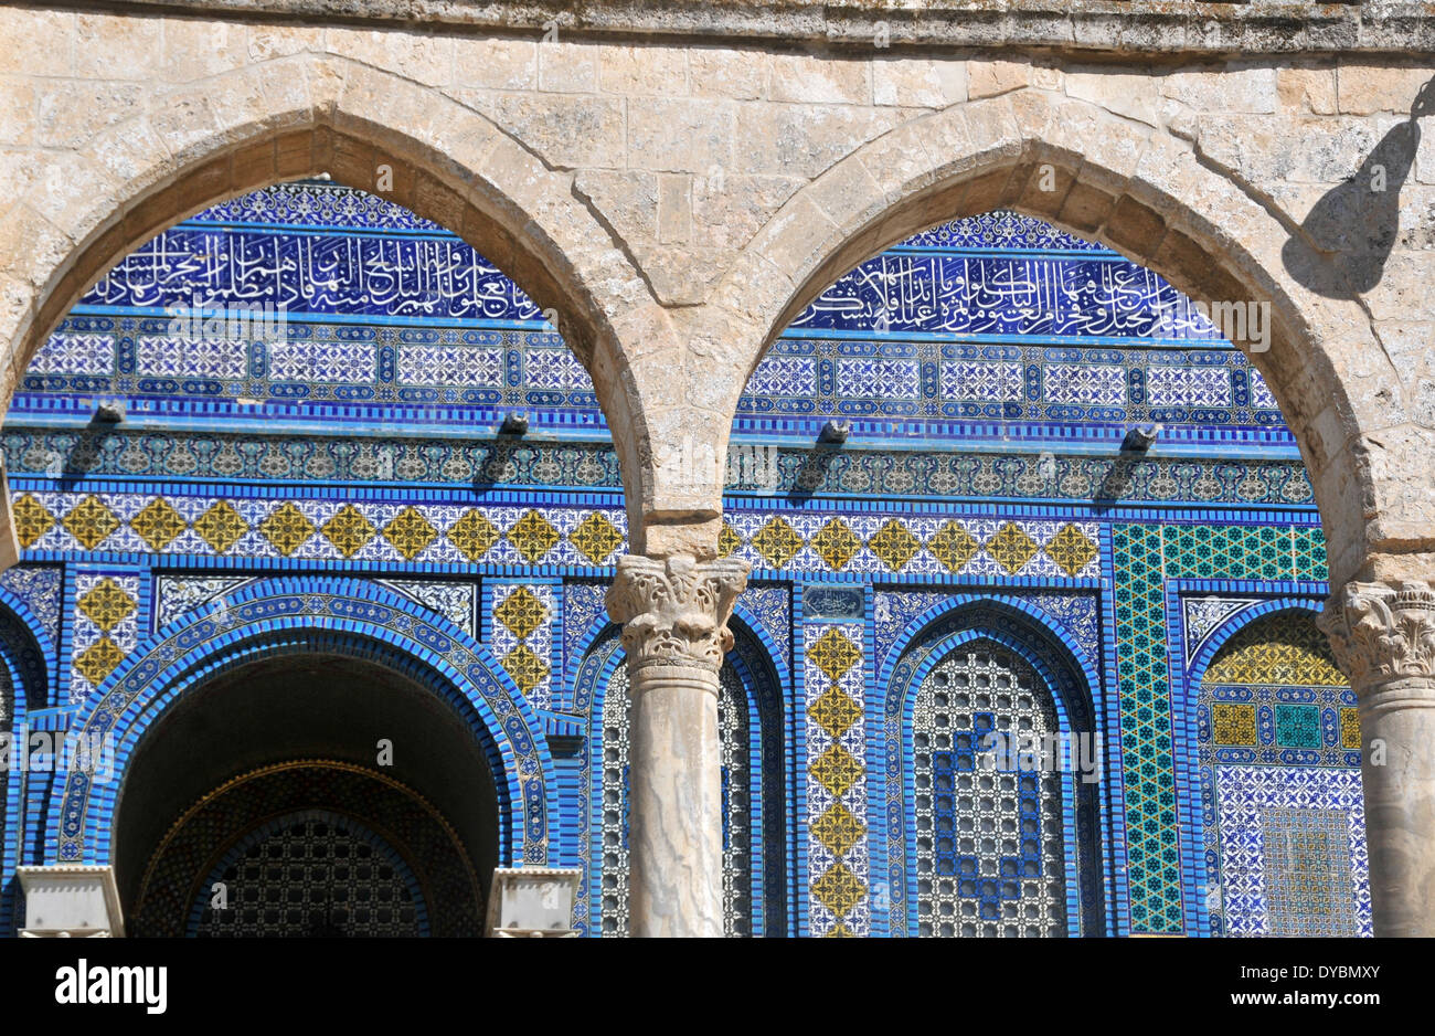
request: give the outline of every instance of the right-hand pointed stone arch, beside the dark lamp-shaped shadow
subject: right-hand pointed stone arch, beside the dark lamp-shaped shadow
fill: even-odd
[[[918,230],[993,208],[1095,238],[1194,298],[1269,301],[1270,350],[1250,359],[1310,469],[1332,581],[1372,551],[1429,548],[1435,529],[1422,514],[1435,488],[1402,482],[1391,446],[1428,449],[1435,433],[1406,416],[1362,307],[1317,297],[1286,271],[1281,248],[1296,221],[1185,141],[1085,100],[1022,89],[913,119],[858,148],[752,238],[715,290],[707,321],[726,334],[728,362],[751,375],[841,274]],[[729,415],[740,392],[733,382]]]

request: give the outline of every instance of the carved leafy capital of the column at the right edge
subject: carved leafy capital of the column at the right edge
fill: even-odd
[[[1435,584],[1347,583],[1317,620],[1356,690],[1401,677],[1435,679]]]

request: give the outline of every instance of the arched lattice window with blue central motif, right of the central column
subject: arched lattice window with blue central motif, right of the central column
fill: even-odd
[[[918,934],[1066,934],[1060,773],[1043,772],[1039,755],[984,750],[993,733],[1020,745],[1056,729],[1040,677],[993,641],[963,644],[923,682],[913,715]]]

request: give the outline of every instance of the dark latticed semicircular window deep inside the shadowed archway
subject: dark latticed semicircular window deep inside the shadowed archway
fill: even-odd
[[[247,841],[199,891],[201,938],[425,934],[418,885],[397,854],[346,818],[294,814]],[[215,882],[224,884],[220,910]]]

